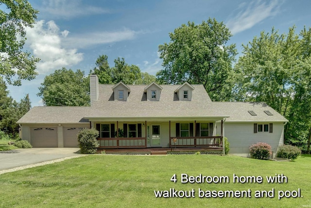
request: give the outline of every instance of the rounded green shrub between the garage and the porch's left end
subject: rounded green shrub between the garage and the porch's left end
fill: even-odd
[[[82,129],[77,134],[79,147],[81,153],[83,154],[95,154],[99,144],[97,142],[97,137],[99,132],[96,129]]]

